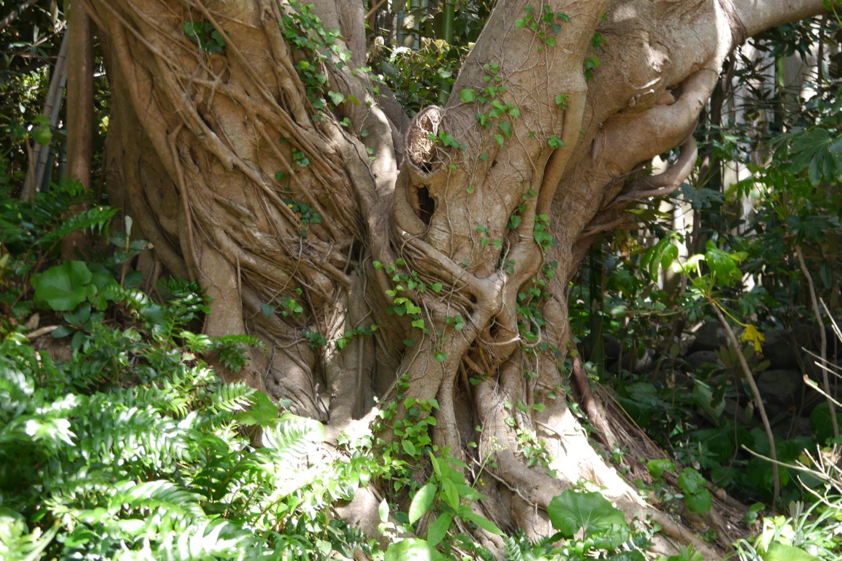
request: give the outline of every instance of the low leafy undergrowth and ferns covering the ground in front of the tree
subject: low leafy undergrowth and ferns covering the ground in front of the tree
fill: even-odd
[[[258,339],[197,333],[207,302],[195,283],[141,290],[131,263],[147,243],[131,238],[131,219],[125,234],[107,233],[116,211],[104,206],[64,219],[89,196],[64,185],[28,204],[0,192],[0,558],[646,558],[657,527],[630,524],[586,484],[551,501],[553,533],[537,540],[479,514],[493,457],[466,481],[467,466],[430,440],[438,404],[403,398],[402,383],[405,418],[383,404],[375,432],[329,448],[317,421],[222,382],[209,363],[238,371]],[[80,231],[95,249],[57,259]],[[688,470],[681,480],[688,496],[703,483]],[[334,507],[372,484],[388,494],[380,535],[365,536]],[[809,512],[768,519],[738,553],[791,558],[780,554],[803,553],[786,548],[807,524],[838,526],[838,512],[823,509],[824,525]],[[669,561],[697,559],[689,548]]]

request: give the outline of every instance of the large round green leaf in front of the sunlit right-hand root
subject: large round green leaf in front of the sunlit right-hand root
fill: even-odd
[[[626,517],[599,493],[577,493],[572,489],[553,497],[546,509],[552,527],[564,537],[584,530],[585,537],[609,538],[620,545],[628,537]]]

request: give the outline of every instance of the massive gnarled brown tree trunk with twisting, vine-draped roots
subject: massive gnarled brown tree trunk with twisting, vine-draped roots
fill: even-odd
[[[498,526],[546,533],[541,509],[587,478],[690,540],[605,464],[567,408],[573,376],[605,419],[565,361],[568,281],[628,204],[690,172],[691,133],[733,46],[821,0],[499,2],[450,102],[412,120],[359,70],[362,2],[315,0],[321,23],[308,21],[340,29],[333,37],[302,27],[287,2],[79,1],[107,46],[112,203],[154,244],[149,270],[200,280],[213,298],[207,333],[264,339],[250,384],[336,432],[404,377],[406,397],[440,403],[435,443],[469,465],[496,456],[484,508]],[[530,6],[536,30],[519,24]],[[208,46],[214,33],[221,49]],[[334,42],[319,58],[302,37]],[[636,177],[679,145],[664,174]],[[463,451],[477,424],[478,451]],[[620,437],[602,425],[605,441]],[[547,442],[558,478],[526,468],[515,430]]]

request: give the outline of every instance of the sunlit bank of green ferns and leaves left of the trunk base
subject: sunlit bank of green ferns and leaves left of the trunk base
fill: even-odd
[[[3,306],[12,311],[0,322],[3,558],[370,551],[326,516],[332,501],[353,496],[365,465],[310,464],[306,455],[325,437],[320,423],[279,417],[266,395],[221,382],[200,360],[217,355],[237,370],[257,339],[193,333],[207,312],[193,283],[165,280],[158,300],[121,285],[125,259],[146,245],[128,236],[110,238],[115,251],[99,261],[47,267],[56,243],[40,240],[61,241],[53,232],[73,202],[69,191],[33,205],[2,202],[3,227],[19,228],[3,246]],[[58,326],[43,337],[73,334],[67,358],[31,345],[22,320],[36,310]],[[246,436],[250,426],[262,446]]]

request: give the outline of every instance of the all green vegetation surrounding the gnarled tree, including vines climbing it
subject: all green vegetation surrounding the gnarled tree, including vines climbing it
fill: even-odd
[[[338,34],[303,4],[285,4],[293,14],[287,39]],[[413,112],[451,94],[477,99],[474,89],[450,90],[493,2],[371,4],[368,72],[376,83]],[[66,119],[51,122],[44,112],[64,14],[48,2],[0,0],[0,9],[0,19],[11,14],[0,24],[0,558],[652,557],[663,525],[627,517],[584,479],[549,500],[552,527],[542,535],[501,527],[482,507],[483,487],[498,478],[494,451],[462,457],[435,443],[440,403],[408,397],[407,375],[370,423],[335,433],[293,414],[290,400],[237,381],[232,374],[250,357],[274,349],[247,334],[205,334],[205,291],[167,270],[145,277],[138,263],[152,244],[109,201],[102,51],[98,179],[86,189],[64,174]],[[755,36],[752,54],[733,51],[695,131],[688,179],[665,200],[626,211],[636,221],[631,232],[600,233],[567,295],[573,345],[559,368],[580,372],[586,387],[568,382],[549,398],[568,400],[600,454],[651,504],[689,521],[701,542],[731,542],[733,558],[842,555],[842,336],[834,329],[842,25],[834,14]],[[185,24],[184,34],[203,51],[221,51],[226,39],[205,26]],[[312,34],[296,35],[301,26]],[[600,40],[597,33],[594,52]],[[784,79],[793,59],[805,65],[794,84]],[[297,63],[305,85],[322,95],[307,60]],[[589,61],[588,72],[600,67],[598,56]],[[488,68],[488,88],[497,88],[495,72]],[[503,108],[513,118],[514,110]],[[500,131],[502,147],[509,132]],[[459,145],[447,133],[430,142]],[[21,198],[39,146],[49,152],[45,177]],[[292,158],[309,163],[295,149]],[[677,159],[678,150],[661,156]],[[321,218],[289,201],[306,238]],[[520,216],[511,220],[514,230]],[[557,244],[545,222],[534,232],[541,247]],[[62,252],[79,234],[87,242],[72,256]],[[424,286],[399,261],[374,266],[411,290]],[[522,341],[542,352],[555,352],[541,339],[539,302],[556,268],[542,264],[517,295]],[[392,314],[417,313],[413,326],[423,329],[421,309],[397,292]],[[302,306],[293,294],[258,313],[297,318]],[[447,319],[456,332],[467,321]],[[312,348],[342,351],[377,329],[302,336]],[[462,374],[466,387],[485,382]],[[605,403],[596,414],[594,396]],[[517,420],[544,407],[507,401],[506,421],[525,464],[554,476],[546,443]],[[478,450],[475,441],[462,444]],[[347,510],[364,492],[380,518],[368,535]],[[722,526],[711,525],[713,516]],[[690,544],[669,561],[701,558]]]

